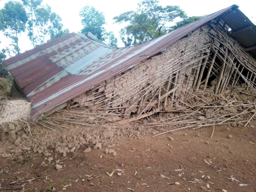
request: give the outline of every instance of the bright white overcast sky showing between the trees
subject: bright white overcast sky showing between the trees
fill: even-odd
[[[0,0],[0,9],[9,0]],[[19,1],[19,0],[18,0]],[[106,30],[113,31],[118,38],[118,46],[122,47],[123,43],[119,39],[119,31],[123,26],[113,24],[112,18],[119,14],[136,10],[138,0],[43,0],[43,5],[48,4],[52,7],[52,12],[56,12],[62,17],[63,29],[68,28],[70,32],[79,32],[82,29],[79,11],[85,5],[94,6],[97,10],[103,12],[106,18]],[[160,0],[160,5],[178,5],[188,16],[208,15],[225,7],[237,4],[239,9],[253,22],[256,23],[256,1],[255,0]],[[32,48],[27,34],[22,34],[19,38],[21,52]],[[8,46],[10,40],[0,34],[0,49]]]

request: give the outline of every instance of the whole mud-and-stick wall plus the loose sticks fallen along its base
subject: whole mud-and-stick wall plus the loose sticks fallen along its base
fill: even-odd
[[[123,126],[160,112],[177,114],[144,125],[176,125],[182,121],[190,127],[245,122],[238,117],[250,117],[249,113],[256,110],[255,67],[256,60],[213,22],[74,98],[65,109],[41,123],[48,128],[60,128],[61,123],[102,127],[114,122]],[[241,93],[250,98],[242,101]],[[224,114],[216,115],[216,111]]]

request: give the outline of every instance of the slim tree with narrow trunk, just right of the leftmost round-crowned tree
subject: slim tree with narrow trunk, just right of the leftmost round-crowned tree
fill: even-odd
[[[28,10],[28,37],[33,44],[33,47],[36,46],[36,34],[35,34],[35,11],[41,6],[43,0],[22,0],[23,5]]]

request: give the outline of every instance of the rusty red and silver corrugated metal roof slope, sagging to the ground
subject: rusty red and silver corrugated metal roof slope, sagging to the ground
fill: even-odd
[[[133,47],[113,48],[70,33],[2,63],[31,102],[31,119],[152,57],[233,5]]]

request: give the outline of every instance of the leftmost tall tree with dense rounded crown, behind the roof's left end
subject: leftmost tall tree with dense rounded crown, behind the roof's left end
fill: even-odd
[[[20,54],[18,46],[18,34],[25,31],[27,14],[20,2],[9,1],[2,9],[2,15],[5,22],[5,36],[12,39],[11,46],[14,46],[13,52]]]

